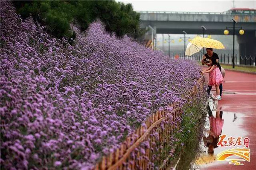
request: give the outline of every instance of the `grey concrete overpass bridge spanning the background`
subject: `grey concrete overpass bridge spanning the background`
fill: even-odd
[[[239,43],[240,55],[256,54],[256,14],[233,14],[227,12],[149,12],[139,11],[141,28],[152,26],[154,37],[156,34],[202,34],[201,26],[207,30],[205,34],[224,35],[226,27],[233,27],[234,18],[238,23],[236,27],[244,29],[244,35],[239,35],[236,28],[235,35]],[[230,29],[233,35],[233,29]],[[151,40],[151,31],[145,35],[145,39]]]

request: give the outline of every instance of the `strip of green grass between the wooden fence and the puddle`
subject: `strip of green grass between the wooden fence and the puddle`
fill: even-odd
[[[182,133],[175,133],[175,138],[179,139],[179,144],[175,150],[175,160],[170,165],[174,166],[180,156],[180,161],[177,164],[178,170],[190,169],[191,163],[195,160],[207,115],[204,110],[205,103],[206,98],[202,97],[198,101],[193,101],[192,104],[186,104],[183,107],[184,113],[180,127],[183,131]]]

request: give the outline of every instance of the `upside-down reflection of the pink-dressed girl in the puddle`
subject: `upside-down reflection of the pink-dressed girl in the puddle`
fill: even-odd
[[[213,149],[218,147],[217,143],[219,140],[219,136],[222,133],[222,127],[224,120],[222,119],[222,111],[216,112],[216,118],[212,115],[212,111],[209,113],[209,121],[210,121],[210,131],[208,137],[203,137],[204,145],[208,147],[208,153],[213,154]]]

